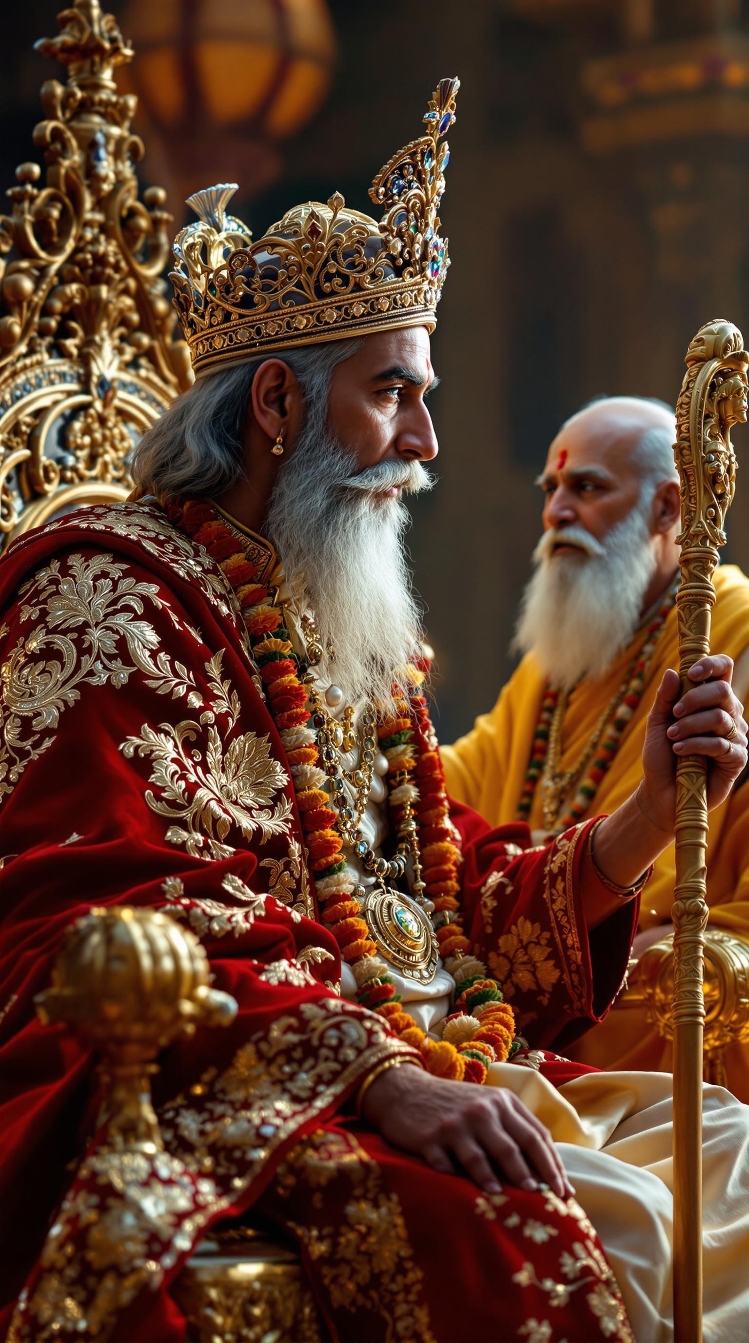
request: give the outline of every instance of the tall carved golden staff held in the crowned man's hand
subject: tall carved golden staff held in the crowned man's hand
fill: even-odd
[[[686,353],[677,402],[674,455],[681,479],[682,579],[677,594],[682,694],[687,672],[710,651],[713,572],[725,545],[736,457],[732,424],[746,420],[746,367],[741,332],[717,320],[702,326]],[[674,889],[674,1335],[702,1339],[702,994],[707,923],[707,763],[677,766],[677,885]]]

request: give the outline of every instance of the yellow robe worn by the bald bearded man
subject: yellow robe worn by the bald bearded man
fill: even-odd
[[[749,689],[749,579],[736,565],[715,573],[711,647],[736,662],[734,684],[746,704]],[[620,686],[647,633],[635,637],[601,681],[579,686],[569,697],[562,733],[561,768],[569,770],[581,756],[585,741]],[[678,666],[677,614],[671,611],[651,661],[646,692],[621,737],[619,752],[603,779],[589,815],[613,811],[642,778],[642,749],[648,709],[666,667]],[[533,733],[544,693],[544,677],[533,654],[502,690],[490,713],[477,719],[467,736],[443,747],[447,786],[454,798],[475,807],[491,825],[517,819],[517,804],[530,756]],[[530,813],[532,830],[544,827],[541,787]],[[643,893],[640,929],[663,924],[670,929],[674,892],[674,846],[658,860]],[[707,904],[710,927],[722,928],[749,943],[749,780],[710,814],[707,853]],[[583,1062],[615,1069],[671,1069],[671,1046],[646,1021],[644,1011],[613,1007],[603,1025],[593,1027],[572,1050]],[[728,1085],[749,1101],[749,1045],[732,1045],[725,1054]]]

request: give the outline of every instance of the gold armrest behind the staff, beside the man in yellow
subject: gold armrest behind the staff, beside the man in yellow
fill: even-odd
[[[672,1038],[674,935],[648,947],[630,971],[621,1007],[644,1007],[663,1039]],[[705,932],[705,1081],[726,1084],[723,1052],[749,1041],[749,945],[719,928]]]

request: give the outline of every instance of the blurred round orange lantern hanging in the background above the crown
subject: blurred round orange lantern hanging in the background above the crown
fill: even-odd
[[[234,177],[246,192],[279,171],[278,145],[321,106],[336,58],[325,0],[128,0],[138,95],[174,189]]]

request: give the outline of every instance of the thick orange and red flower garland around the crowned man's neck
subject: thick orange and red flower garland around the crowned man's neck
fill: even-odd
[[[357,1001],[379,1013],[389,1029],[419,1050],[428,1072],[440,1077],[485,1082],[489,1065],[505,1061],[519,1048],[514,1039],[513,1009],[503,1002],[497,980],[470,955],[458,896],[462,855],[436,737],[427,701],[419,693],[424,665],[409,669],[413,693],[395,700],[395,716],[377,724],[380,747],[388,759],[388,802],[393,829],[411,837],[416,880],[413,893],[434,904],[434,925],[446,970],[455,979],[454,1011],[443,1038],[434,1041],[401,1009],[388,966],[369,939],[354,897],[356,878],[346,870],[344,841],[328,787],[342,788],[333,767],[323,767],[317,743],[317,714],[307,706],[306,665],[294,653],[282,610],[259,583],[255,565],[216,509],[205,501],[170,501],[169,521],[203,545],[220,565],[239,602],[259,667],[270,713],[278,728],[297,795],[305,845],[314,874],[322,921],[340,947],[357,982]],[[423,862],[423,873],[421,873]]]

